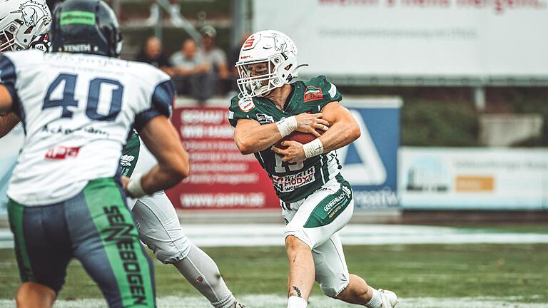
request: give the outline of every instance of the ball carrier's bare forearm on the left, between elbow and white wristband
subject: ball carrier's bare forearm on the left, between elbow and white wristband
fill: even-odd
[[[235,143],[242,154],[257,153],[270,148],[282,138],[276,123],[260,125],[235,134]]]

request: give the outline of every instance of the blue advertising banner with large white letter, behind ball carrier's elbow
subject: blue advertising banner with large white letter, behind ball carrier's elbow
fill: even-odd
[[[362,135],[338,150],[342,175],[352,185],[356,209],[398,207],[399,98],[344,99]]]

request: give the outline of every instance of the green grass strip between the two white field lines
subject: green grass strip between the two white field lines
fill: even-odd
[[[285,294],[288,267],[283,247],[204,250],[218,262],[238,297]],[[548,245],[347,246],[345,252],[350,272],[365,277],[373,287],[393,289],[402,299],[519,297],[521,302],[548,303]],[[155,265],[158,297],[199,296],[174,267]],[[0,250],[0,273],[0,299],[11,299],[19,286],[13,250]],[[318,286],[314,295],[321,297]],[[59,299],[88,298],[101,298],[101,294],[73,261]]]

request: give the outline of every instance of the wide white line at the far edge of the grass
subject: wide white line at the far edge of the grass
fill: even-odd
[[[196,224],[183,231],[198,246],[283,245],[283,225]],[[492,232],[482,229],[415,225],[347,225],[340,231],[344,245],[405,244],[534,244],[548,243],[548,234]],[[8,229],[0,229],[0,248],[13,247]]]

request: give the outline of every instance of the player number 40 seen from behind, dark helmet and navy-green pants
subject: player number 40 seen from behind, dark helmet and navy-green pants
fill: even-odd
[[[13,111],[25,130],[8,190],[23,281],[17,305],[51,307],[76,257],[110,307],[156,307],[153,266],[122,189],[143,197],[188,175],[168,120],[173,83],[153,66],[117,59],[118,21],[103,1],[58,6],[51,41],[54,53],[0,56],[0,116]],[[158,164],[122,185],[116,173],[132,125]]]

